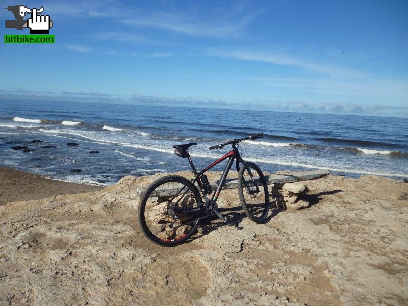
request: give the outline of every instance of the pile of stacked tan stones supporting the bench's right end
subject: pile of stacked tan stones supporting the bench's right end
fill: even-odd
[[[279,206],[286,206],[288,209],[302,209],[310,206],[309,201],[300,199],[307,193],[308,188],[301,182],[274,184],[272,195],[275,197]]]

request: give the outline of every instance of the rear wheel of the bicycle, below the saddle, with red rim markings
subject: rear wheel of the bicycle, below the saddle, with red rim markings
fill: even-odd
[[[152,242],[162,246],[184,243],[198,227],[199,213],[183,213],[201,207],[201,196],[191,181],[168,175],[153,182],[139,203],[139,224]]]

